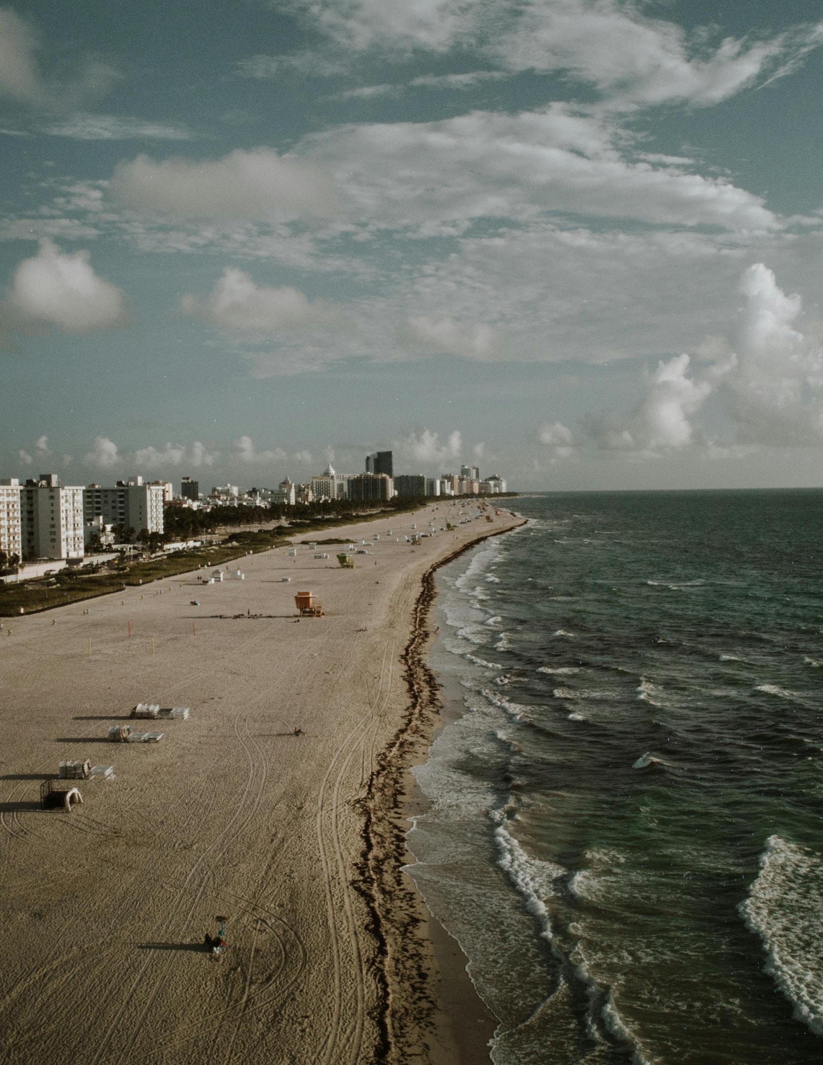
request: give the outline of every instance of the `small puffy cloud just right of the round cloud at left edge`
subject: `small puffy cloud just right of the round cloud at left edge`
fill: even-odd
[[[297,289],[257,285],[248,274],[232,266],[226,267],[205,299],[185,295],[180,307],[184,314],[243,333],[336,328],[343,324],[340,310],[332,304],[309,300]]]

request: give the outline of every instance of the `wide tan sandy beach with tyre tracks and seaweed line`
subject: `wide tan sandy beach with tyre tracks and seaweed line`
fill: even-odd
[[[449,945],[400,872],[406,767],[438,720],[425,575],[520,524],[490,507],[492,522],[396,542],[461,508],[475,511],[331,529],[367,541],[355,570],[333,545],[317,548],[328,560],[280,548],[224,567],[244,580],[187,574],[5,623],[3,1061],[471,1056],[455,1021],[471,985],[454,956],[449,981]],[[297,620],[303,589],[325,617]],[[141,701],[191,716],[132,722],[159,743],[108,742]],[[69,758],[114,779],[80,782],[70,814],[42,809],[42,782]],[[228,948],[213,957],[218,914]]]

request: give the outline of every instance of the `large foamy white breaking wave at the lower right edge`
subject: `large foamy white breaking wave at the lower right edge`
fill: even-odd
[[[794,1016],[823,1035],[823,862],[819,854],[770,836],[760,873],[739,906],[763,941],[766,971]]]

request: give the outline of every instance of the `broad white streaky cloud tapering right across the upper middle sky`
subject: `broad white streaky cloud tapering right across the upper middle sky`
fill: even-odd
[[[431,226],[540,211],[658,225],[778,227],[763,200],[681,165],[626,158],[631,136],[603,117],[553,103],[516,115],[472,112],[433,122],[344,126],[300,154],[338,175],[349,217]]]

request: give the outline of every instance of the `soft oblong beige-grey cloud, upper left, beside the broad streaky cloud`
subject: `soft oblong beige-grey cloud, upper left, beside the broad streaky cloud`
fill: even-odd
[[[326,174],[270,148],[202,161],[137,155],[117,164],[111,194],[124,207],[175,218],[270,219],[329,215],[338,208]]]

